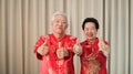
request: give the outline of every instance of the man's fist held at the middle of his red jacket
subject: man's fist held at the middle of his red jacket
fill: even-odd
[[[64,59],[64,56],[68,56],[69,55],[69,52],[66,49],[63,49],[63,47],[59,47],[57,50],[57,55],[58,55],[58,59],[61,60],[61,59]]]

